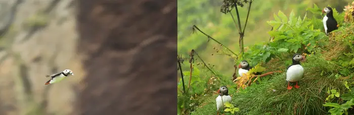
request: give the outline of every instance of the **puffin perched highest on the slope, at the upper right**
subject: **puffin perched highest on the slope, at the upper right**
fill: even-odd
[[[333,17],[333,11],[331,7],[326,7],[322,10],[322,13],[326,13],[326,16],[323,17],[323,27],[325,27],[325,32],[326,35],[328,35],[328,33],[337,30],[338,27],[338,23],[336,21],[336,19],[334,19]]]

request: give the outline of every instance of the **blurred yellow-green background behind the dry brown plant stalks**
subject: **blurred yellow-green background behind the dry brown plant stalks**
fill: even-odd
[[[189,58],[189,52],[194,49],[201,58],[211,65],[216,71],[226,76],[232,76],[236,64],[234,59],[226,55],[217,55],[213,47],[218,47],[214,41],[208,41],[207,37],[200,32],[192,34],[192,26],[196,25],[206,34],[229,47],[235,53],[239,53],[239,34],[230,14],[220,12],[223,1],[213,0],[179,0],[178,1],[178,54]],[[245,30],[244,46],[252,44],[262,44],[270,39],[268,32],[271,26],[266,21],[273,20],[273,14],[279,10],[289,15],[293,10],[295,15],[304,16],[307,8],[313,8],[316,4],[319,8],[328,5],[335,8],[339,13],[343,11],[345,5],[351,3],[349,0],[270,0],[257,1],[252,3],[247,27]],[[248,4],[239,8],[241,26],[243,28],[246,20]],[[236,19],[236,12],[232,10]],[[213,54],[213,55],[212,55]],[[189,70],[188,62],[182,65],[183,70]],[[180,76],[180,75],[179,75]]]

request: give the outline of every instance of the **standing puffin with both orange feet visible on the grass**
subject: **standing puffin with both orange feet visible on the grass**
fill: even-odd
[[[303,68],[300,65],[300,61],[304,58],[301,54],[294,54],[292,57],[292,64],[286,70],[286,81],[288,81],[288,89],[290,90],[292,86],[290,86],[290,82],[296,82],[295,88],[299,88],[300,86],[297,85],[297,81],[302,78],[303,75]]]

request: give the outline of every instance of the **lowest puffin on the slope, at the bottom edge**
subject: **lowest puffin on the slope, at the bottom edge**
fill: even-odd
[[[221,86],[219,90],[217,90],[219,95],[216,97],[216,108],[217,114],[219,114],[219,108],[224,107],[224,103],[231,102],[231,96],[229,95],[229,89],[226,86]]]

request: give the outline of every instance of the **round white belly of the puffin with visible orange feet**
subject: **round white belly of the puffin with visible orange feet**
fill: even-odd
[[[296,82],[302,78],[303,68],[301,65],[292,65],[286,70],[286,80]]]

